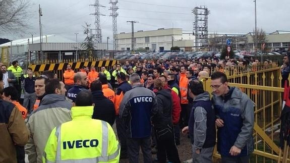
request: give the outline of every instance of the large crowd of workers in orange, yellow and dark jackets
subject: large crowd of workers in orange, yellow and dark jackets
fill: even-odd
[[[0,162],[24,162],[25,151],[29,162],[135,163],[140,147],[144,162],[181,162],[181,133],[191,140],[193,162],[212,162],[216,128],[222,162],[248,162],[254,103],[228,86],[226,74],[257,65],[259,60],[138,60],[75,72],[68,64],[63,81],[50,71],[23,75],[17,61],[13,71],[1,65],[0,137],[6,143],[0,144]],[[212,98],[204,77],[211,78]]]

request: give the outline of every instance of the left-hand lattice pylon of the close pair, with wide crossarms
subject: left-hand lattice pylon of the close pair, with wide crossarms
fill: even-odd
[[[100,15],[102,15],[102,16],[105,16],[105,15],[100,14],[100,7],[104,8],[104,6],[100,5],[99,0],[95,0],[95,4],[90,5],[90,6],[93,6],[95,8],[95,12],[93,14],[90,14],[90,15],[95,16],[95,29],[94,29],[95,32],[93,34],[94,43],[101,43],[102,42],[102,32],[101,32]]]

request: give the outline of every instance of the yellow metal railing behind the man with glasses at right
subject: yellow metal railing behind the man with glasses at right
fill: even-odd
[[[234,71],[235,72],[235,71]],[[239,71],[236,71],[239,72]],[[278,130],[282,109],[281,73],[279,67],[268,67],[256,71],[232,73],[228,75],[228,85],[239,87],[255,103],[254,153],[250,162],[276,162],[280,149]],[[204,88],[212,92],[211,80],[204,80]],[[214,162],[220,158],[216,148]]]

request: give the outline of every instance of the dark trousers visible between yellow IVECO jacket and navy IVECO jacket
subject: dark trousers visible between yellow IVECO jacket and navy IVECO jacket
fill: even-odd
[[[125,124],[122,122],[119,116],[116,116],[115,121],[116,121],[117,135],[121,144],[120,158],[125,158],[125,157],[128,157]]]

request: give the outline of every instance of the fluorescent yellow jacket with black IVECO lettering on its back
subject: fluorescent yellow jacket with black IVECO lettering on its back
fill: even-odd
[[[114,131],[107,122],[91,119],[93,108],[72,107],[73,120],[51,131],[43,162],[119,162]]]

